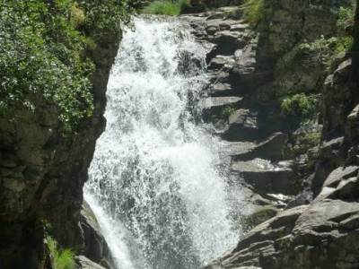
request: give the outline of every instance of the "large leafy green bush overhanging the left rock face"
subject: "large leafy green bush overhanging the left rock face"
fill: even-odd
[[[119,32],[119,11],[115,0],[0,2],[0,113],[35,111],[46,100],[74,131],[93,110],[86,50],[96,47],[92,37]]]

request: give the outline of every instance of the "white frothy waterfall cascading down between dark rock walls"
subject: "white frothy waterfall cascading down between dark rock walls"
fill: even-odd
[[[217,143],[193,116],[206,49],[180,22],[134,24],[109,78],[85,199],[117,268],[196,269],[238,239]]]

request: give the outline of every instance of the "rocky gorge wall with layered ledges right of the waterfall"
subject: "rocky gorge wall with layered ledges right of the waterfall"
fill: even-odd
[[[236,7],[182,17],[212,46],[204,117],[229,145],[230,184],[255,204],[249,231],[206,268],[357,268],[358,13],[346,53],[325,41],[346,1],[265,3],[255,23]],[[318,98],[314,117],[286,114],[293,96]]]

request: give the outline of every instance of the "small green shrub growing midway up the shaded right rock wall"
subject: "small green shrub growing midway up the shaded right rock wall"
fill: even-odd
[[[316,95],[294,94],[282,100],[282,114],[293,117],[311,117],[316,111],[317,104]]]

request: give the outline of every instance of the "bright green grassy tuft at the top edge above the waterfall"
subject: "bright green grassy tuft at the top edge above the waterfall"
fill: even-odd
[[[158,0],[147,5],[143,13],[176,16],[190,5],[190,0]]]

